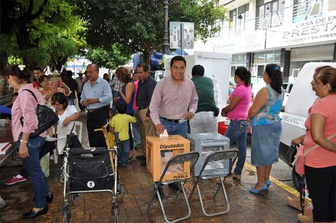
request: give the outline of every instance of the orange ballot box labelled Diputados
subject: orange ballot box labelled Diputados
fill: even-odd
[[[153,181],[160,180],[160,176],[170,158],[180,153],[190,152],[190,141],[180,135],[168,137],[146,137],[146,162],[147,171],[153,177]],[[163,178],[163,181],[183,179],[190,177],[190,162],[171,165]]]

